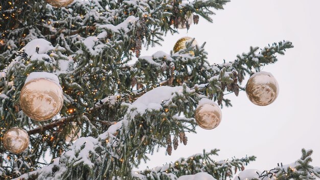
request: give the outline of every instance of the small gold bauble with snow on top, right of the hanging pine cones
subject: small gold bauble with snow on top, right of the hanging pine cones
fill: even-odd
[[[217,127],[222,119],[222,112],[218,105],[210,103],[199,105],[195,112],[197,124],[205,130]]]

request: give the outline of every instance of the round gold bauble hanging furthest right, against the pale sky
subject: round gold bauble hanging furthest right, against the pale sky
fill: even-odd
[[[253,104],[267,106],[276,100],[279,94],[279,85],[271,73],[256,72],[250,76],[245,92]]]

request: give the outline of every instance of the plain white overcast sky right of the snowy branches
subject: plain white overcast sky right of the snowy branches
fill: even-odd
[[[217,11],[213,23],[200,19],[188,34],[165,37],[163,46],[144,50],[148,56],[157,50],[169,53],[183,36],[207,42],[209,62],[232,61],[237,54],[248,52],[249,46],[264,47],[268,43],[290,40],[294,48],[279,61],[267,65],[278,80],[280,93],[273,104],[252,104],[245,92],[228,95],[233,107],[223,108],[223,118],[214,130],[188,134],[188,144],[179,144],[172,156],[165,149],[156,152],[144,169],[170,163],[180,157],[201,153],[202,149],[220,149],[216,160],[255,155],[257,160],[247,169],[271,169],[277,163],[289,164],[301,157],[301,148],[313,149],[313,165],[320,166],[320,1],[298,0],[232,0],[225,10]],[[246,80],[244,81],[244,83]],[[244,86],[245,84],[243,84]]]

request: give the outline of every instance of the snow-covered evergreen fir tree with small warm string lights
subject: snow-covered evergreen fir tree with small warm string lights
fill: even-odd
[[[44,0],[0,2],[0,137],[15,126],[30,137],[29,148],[17,155],[0,144],[1,179],[171,180],[205,172],[222,180],[243,171],[254,156],[216,162],[211,157],[217,149],[132,170],[157,147],[170,155],[187,145],[185,132],[195,133],[200,99],[231,106],[225,93],[238,95],[245,75],[293,47],[289,41],[250,47],[235,61],[214,65],[204,44],[194,46],[193,40],[177,53],[140,55],[179,26],[189,29],[188,18],[212,22],[213,10],[227,2],[75,0],[61,8]],[[138,60],[130,64],[134,56]],[[34,121],[21,111],[20,91],[32,72],[56,74],[63,88],[62,110],[49,121]],[[252,179],[320,177],[320,169],[310,165],[311,153],[303,149],[296,163],[254,172]]]

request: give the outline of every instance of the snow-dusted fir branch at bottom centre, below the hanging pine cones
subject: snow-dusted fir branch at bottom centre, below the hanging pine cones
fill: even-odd
[[[217,162],[212,160],[212,155],[218,155],[218,151],[218,149],[213,149],[210,152],[205,152],[203,150],[203,153],[198,153],[190,156],[189,158],[180,158],[174,163],[158,166],[152,169],[133,171],[132,174],[134,177],[141,180],[150,179],[150,177],[155,179],[162,179],[165,177],[176,179],[179,177],[178,179],[180,179],[182,177],[181,175],[187,175],[181,179],[193,179],[195,176],[192,174],[206,172],[205,174],[210,174],[211,177],[213,176],[216,179],[222,180],[232,177],[232,174],[237,172],[236,169],[243,169],[244,165],[255,160],[255,157],[246,157],[242,159],[233,158],[232,160]]]

